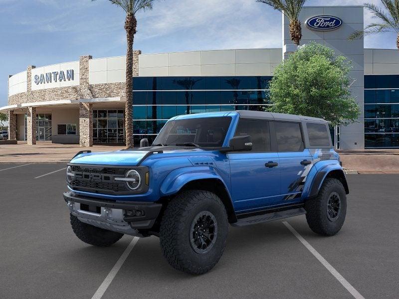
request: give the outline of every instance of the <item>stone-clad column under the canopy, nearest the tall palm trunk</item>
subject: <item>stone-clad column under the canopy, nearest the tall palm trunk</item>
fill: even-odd
[[[79,145],[93,146],[93,106],[90,103],[79,103]]]

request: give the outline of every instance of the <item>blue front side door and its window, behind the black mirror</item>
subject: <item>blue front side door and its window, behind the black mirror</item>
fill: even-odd
[[[235,136],[249,135],[252,151],[228,154],[234,209],[250,212],[270,206],[280,194],[277,152],[270,151],[269,122],[240,119]]]

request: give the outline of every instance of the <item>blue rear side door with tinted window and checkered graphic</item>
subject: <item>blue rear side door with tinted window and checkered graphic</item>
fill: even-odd
[[[299,201],[306,176],[312,167],[312,156],[305,149],[302,124],[299,122],[273,122],[281,171],[281,200],[279,203]]]

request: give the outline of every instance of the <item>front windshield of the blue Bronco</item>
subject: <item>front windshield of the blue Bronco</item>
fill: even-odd
[[[153,145],[221,147],[231,117],[210,117],[168,122]]]

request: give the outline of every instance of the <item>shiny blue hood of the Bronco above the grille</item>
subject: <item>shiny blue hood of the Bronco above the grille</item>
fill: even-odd
[[[81,153],[70,162],[76,164],[137,165],[148,151],[120,150],[107,152]]]

